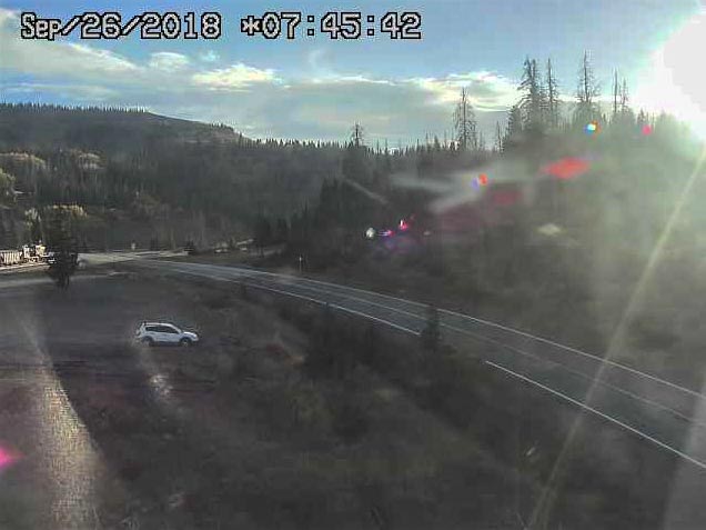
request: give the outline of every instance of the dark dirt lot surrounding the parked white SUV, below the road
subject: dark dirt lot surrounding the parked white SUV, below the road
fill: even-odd
[[[514,524],[497,463],[365,370],[309,378],[306,337],[236,289],[0,286],[0,528]],[[142,320],[203,343],[134,344]]]

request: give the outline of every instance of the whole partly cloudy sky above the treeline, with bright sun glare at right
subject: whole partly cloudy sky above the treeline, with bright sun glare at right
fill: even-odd
[[[123,22],[145,10],[216,11],[223,28],[212,40],[142,40],[138,32],[115,40],[81,40],[77,32],[53,42],[19,38],[23,11],[65,22],[87,10],[118,11]],[[241,18],[265,11],[302,12],[296,38],[241,32]],[[327,11],[360,11],[364,29],[369,14],[416,11],[422,39],[307,37]],[[310,14],[316,24],[306,23]],[[226,123],[252,138],[345,140],[360,122],[367,142],[443,139],[452,134],[462,88],[492,137],[517,100],[525,57],[541,64],[551,58],[571,99],[584,50],[604,97],[617,69],[634,106],[690,120],[706,138],[706,73],[695,59],[706,50],[706,7],[698,0],[0,0],[1,100],[141,107]]]

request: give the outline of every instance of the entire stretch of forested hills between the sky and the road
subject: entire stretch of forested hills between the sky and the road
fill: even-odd
[[[687,380],[706,296],[703,143],[633,109],[617,74],[602,99],[587,56],[575,86],[569,103],[551,62],[527,58],[493,138],[461,91],[454,138],[394,149],[364,123],[340,144],[284,142],[134,110],[2,104],[0,247],[43,239],[59,213],[95,249],[254,236],[283,246],[273,266],[413,290],[596,351],[622,344]]]

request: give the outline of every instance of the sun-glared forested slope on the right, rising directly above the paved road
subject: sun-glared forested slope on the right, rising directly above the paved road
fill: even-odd
[[[263,218],[258,239],[286,240],[272,264],[512,322],[699,388],[704,144],[633,109],[617,76],[599,99],[587,56],[571,106],[551,72],[525,61],[492,148],[463,92],[452,143],[387,153],[354,136],[342,178],[289,234]]]

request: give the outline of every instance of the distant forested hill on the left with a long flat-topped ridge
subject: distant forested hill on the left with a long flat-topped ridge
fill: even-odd
[[[90,247],[244,237],[255,213],[286,217],[315,196],[340,153],[142,111],[2,104],[0,247],[41,232],[32,223],[43,209],[69,204]]]

